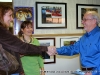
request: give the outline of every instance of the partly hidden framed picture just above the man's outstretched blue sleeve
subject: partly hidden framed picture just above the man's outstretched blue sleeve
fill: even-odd
[[[78,41],[79,37],[60,38],[60,47],[69,46]]]

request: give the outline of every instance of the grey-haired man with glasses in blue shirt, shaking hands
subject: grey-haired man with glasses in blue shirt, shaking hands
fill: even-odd
[[[75,44],[57,48],[59,55],[80,54],[85,75],[100,75],[100,18],[95,11],[84,14],[82,24],[86,33]]]

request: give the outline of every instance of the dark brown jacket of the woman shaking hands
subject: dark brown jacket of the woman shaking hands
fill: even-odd
[[[39,55],[43,51],[47,51],[45,46],[35,46],[22,42],[16,36],[14,36],[9,30],[0,25],[0,44],[2,47],[12,53],[20,63],[18,73],[23,72],[20,55]],[[16,73],[15,72],[15,73]]]

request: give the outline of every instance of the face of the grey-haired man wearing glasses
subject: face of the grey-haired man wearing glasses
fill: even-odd
[[[82,24],[84,30],[86,32],[90,32],[96,27],[96,19],[93,19],[91,14],[86,13],[83,17]]]

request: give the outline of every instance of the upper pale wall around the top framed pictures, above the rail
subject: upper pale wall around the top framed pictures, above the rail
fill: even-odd
[[[35,2],[41,0],[13,0],[14,6],[30,6],[35,9]],[[54,2],[54,0],[42,0],[42,2]],[[67,28],[65,29],[35,29],[35,34],[69,34],[83,33],[81,29],[76,29],[76,3],[80,4],[100,4],[99,0],[55,0],[55,2],[67,3]],[[35,20],[36,21],[36,20]],[[42,33],[43,32],[43,33]]]

